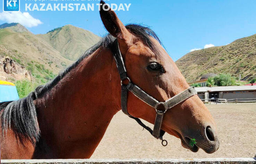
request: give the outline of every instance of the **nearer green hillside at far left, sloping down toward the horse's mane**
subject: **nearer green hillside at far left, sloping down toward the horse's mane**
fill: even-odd
[[[36,77],[38,83],[45,83],[72,63],[20,24],[3,24],[0,27],[0,56],[8,56],[24,66]],[[7,77],[6,80],[18,79]]]

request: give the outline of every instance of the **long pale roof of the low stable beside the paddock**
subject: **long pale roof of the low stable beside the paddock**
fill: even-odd
[[[196,87],[197,92],[222,92],[222,91],[232,91],[232,90],[256,90],[256,85],[254,86],[220,86],[220,87]]]

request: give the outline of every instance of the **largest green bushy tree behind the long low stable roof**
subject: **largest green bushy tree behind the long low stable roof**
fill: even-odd
[[[230,74],[220,74],[215,76],[214,83],[217,86],[230,86],[230,85],[240,85],[236,83],[236,79],[232,77]]]

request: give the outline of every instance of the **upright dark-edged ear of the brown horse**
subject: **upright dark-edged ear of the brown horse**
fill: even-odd
[[[118,19],[116,13],[103,0],[101,0],[100,4],[100,16],[106,30],[120,40],[129,40],[131,33]]]

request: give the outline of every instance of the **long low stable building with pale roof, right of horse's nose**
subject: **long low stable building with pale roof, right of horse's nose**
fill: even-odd
[[[233,99],[233,98],[256,98],[256,85],[254,86],[218,86],[196,87],[200,99]]]

